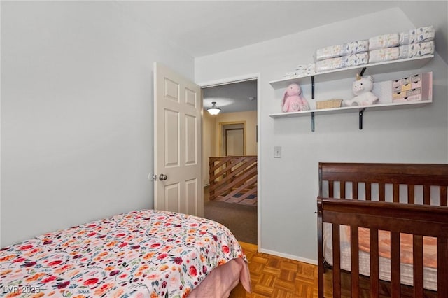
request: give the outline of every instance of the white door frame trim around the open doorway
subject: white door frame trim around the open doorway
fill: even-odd
[[[230,77],[230,78],[222,78],[219,80],[212,80],[209,82],[204,82],[204,83],[197,83],[197,85],[199,85],[201,87],[201,89],[203,88],[208,88],[208,87],[216,87],[216,86],[221,86],[221,85],[228,85],[228,84],[233,84],[233,83],[241,83],[241,82],[245,82],[247,80],[257,80],[257,199],[258,199],[258,204],[257,204],[257,246],[258,246],[258,251],[260,251],[261,249],[261,205],[262,205],[262,187],[261,187],[261,183],[260,183],[260,173],[261,173],[261,161],[262,161],[262,154],[261,154],[261,130],[262,130],[262,125],[260,122],[261,119],[261,111],[260,111],[260,100],[261,100],[261,87],[260,87],[260,73],[249,73],[249,74],[245,74],[245,75],[241,75],[241,76],[234,76],[234,77]],[[204,116],[202,116],[204,117]],[[201,153],[201,158],[202,158],[202,153]]]

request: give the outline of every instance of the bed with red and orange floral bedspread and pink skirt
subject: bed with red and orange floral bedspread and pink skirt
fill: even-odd
[[[246,256],[223,225],[141,210],[0,251],[0,297],[228,297],[250,292]]]

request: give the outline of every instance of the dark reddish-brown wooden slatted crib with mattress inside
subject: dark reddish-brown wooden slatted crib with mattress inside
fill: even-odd
[[[319,163],[318,297],[448,297],[447,164]]]

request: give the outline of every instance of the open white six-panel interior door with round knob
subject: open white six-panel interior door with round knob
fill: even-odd
[[[154,208],[202,217],[201,88],[154,62]]]

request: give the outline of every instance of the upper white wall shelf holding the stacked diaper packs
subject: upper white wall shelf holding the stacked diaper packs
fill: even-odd
[[[333,69],[331,71],[322,71],[309,76],[299,76],[295,78],[286,78],[282,80],[272,80],[269,82],[274,89],[285,88],[290,83],[300,83],[303,81],[305,84],[311,83],[311,76],[314,76],[314,82],[325,82],[328,80],[340,80],[343,78],[354,78],[356,73],[360,73],[360,70],[364,67],[368,73],[391,73],[397,71],[405,71],[407,69],[419,69],[426,63],[433,59],[434,55],[426,55],[421,57],[398,59],[386,62],[363,64],[359,66],[346,67],[344,69]]]

